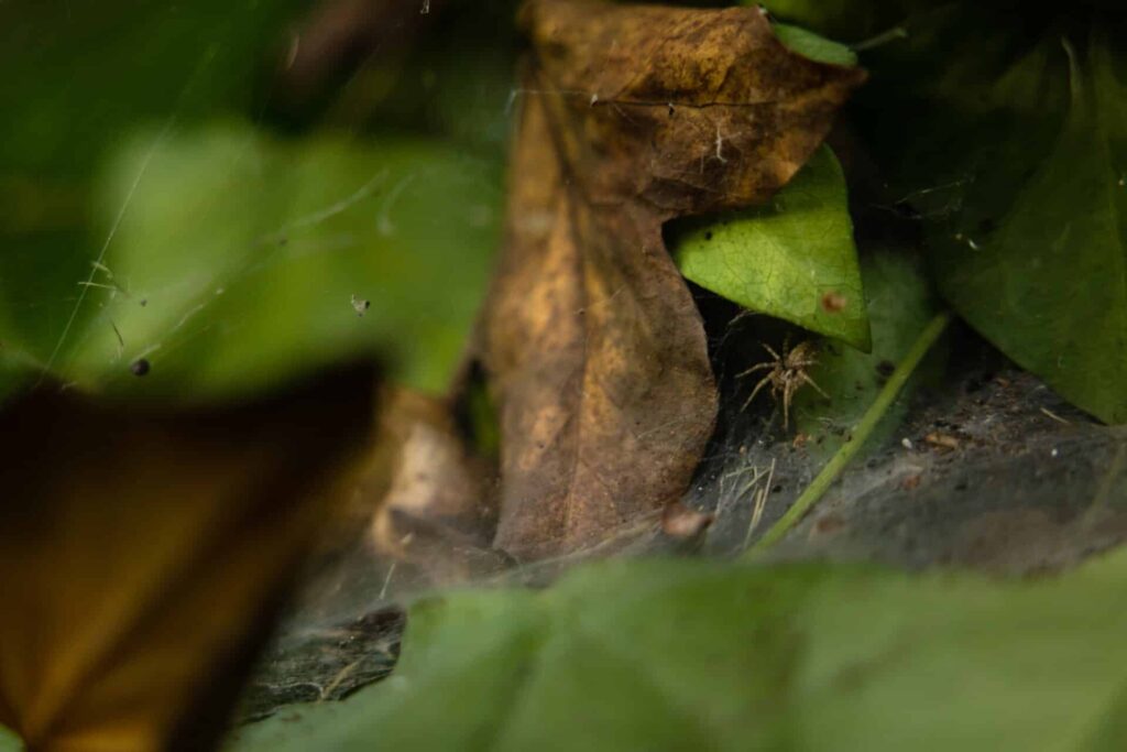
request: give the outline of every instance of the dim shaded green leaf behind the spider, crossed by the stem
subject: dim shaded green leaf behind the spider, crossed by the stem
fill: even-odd
[[[810,377],[829,396],[828,400],[805,388],[796,392],[791,406],[798,431],[807,435],[807,448],[816,458],[828,459],[852,440],[852,426],[935,313],[935,301],[921,266],[911,255],[889,249],[862,256],[872,351],[862,353],[835,343],[823,344],[819,363],[810,369]],[[879,445],[903,421],[913,382],[877,425],[871,445]]]

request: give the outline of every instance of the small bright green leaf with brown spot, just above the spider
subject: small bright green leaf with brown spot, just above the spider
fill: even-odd
[[[871,346],[845,177],[827,147],[769,206],[681,223],[672,248],[682,274],[707,290],[860,350]]]

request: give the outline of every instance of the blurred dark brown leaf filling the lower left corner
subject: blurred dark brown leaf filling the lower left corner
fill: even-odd
[[[0,724],[35,750],[214,744],[365,448],[373,383],[354,369],[192,412],[57,387],[7,405]]]

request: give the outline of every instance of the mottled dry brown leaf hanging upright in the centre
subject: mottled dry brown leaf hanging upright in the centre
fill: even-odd
[[[789,52],[754,8],[541,0],[480,359],[500,410],[496,545],[573,552],[680,497],[717,409],[662,239],[766,201],[863,80]]]

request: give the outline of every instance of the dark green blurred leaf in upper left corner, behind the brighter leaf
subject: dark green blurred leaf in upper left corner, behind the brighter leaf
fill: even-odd
[[[261,110],[308,0],[0,3],[0,399],[37,378],[108,228],[91,182],[139,126]],[[81,325],[92,310],[74,315]]]

